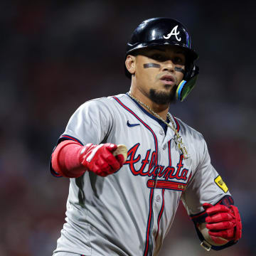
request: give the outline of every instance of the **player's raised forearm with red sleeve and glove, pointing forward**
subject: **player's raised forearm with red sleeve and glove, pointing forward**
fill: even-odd
[[[106,143],[81,146],[78,142],[66,140],[58,144],[52,154],[53,170],[61,176],[78,178],[85,171],[107,176],[119,170],[127,159],[127,147]]]

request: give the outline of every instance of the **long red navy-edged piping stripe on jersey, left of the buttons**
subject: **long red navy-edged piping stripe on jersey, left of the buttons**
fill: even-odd
[[[158,164],[158,142],[157,142],[157,138],[156,138],[156,134],[154,134],[154,131],[149,127],[148,124],[146,124],[144,121],[142,121],[142,119],[140,119],[137,114],[135,114],[132,110],[129,109],[129,107],[125,106],[117,97],[113,97],[114,100],[116,100],[119,105],[121,105],[122,107],[124,107],[125,110],[127,110],[128,112],[130,112],[131,114],[134,115],[134,117],[136,117],[139,122],[142,122],[142,124],[144,125],[144,127],[146,127],[146,129],[149,129],[149,131],[151,132],[151,134],[154,137],[154,144],[155,144],[155,150],[156,150],[156,161],[155,164]],[[152,221],[152,199],[153,199],[153,194],[154,194],[154,187],[151,188],[150,190],[150,195],[149,195],[149,215],[148,215],[148,221],[147,221],[147,225],[146,225],[146,245],[145,245],[145,249],[144,249],[144,256],[146,256],[149,252],[149,233],[150,233],[150,227],[151,227],[151,221]]]

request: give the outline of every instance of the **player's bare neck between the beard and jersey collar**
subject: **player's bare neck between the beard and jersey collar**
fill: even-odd
[[[163,118],[164,120],[166,120],[166,116],[169,110],[169,104],[166,105],[159,105],[155,102],[153,102],[151,99],[149,99],[148,96],[144,95],[143,92],[141,92],[140,90],[134,90],[131,87],[131,90],[129,91],[129,93],[135,97],[137,100],[143,102],[145,105],[147,105],[151,110],[153,110],[154,112],[156,112],[156,114],[159,114],[159,116],[161,118]],[[149,113],[151,113],[146,107],[144,107],[142,105],[142,107]],[[152,113],[151,113],[152,114]]]

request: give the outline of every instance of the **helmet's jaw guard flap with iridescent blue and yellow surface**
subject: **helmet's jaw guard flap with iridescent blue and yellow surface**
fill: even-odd
[[[186,74],[184,75],[183,80],[177,87],[176,98],[183,102],[186,99],[188,94],[191,92],[193,87],[196,85],[196,80],[198,78],[199,68],[196,65],[191,65],[191,68],[188,68]]]

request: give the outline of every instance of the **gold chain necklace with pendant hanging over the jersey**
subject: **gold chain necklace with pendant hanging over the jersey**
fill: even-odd
[[[149,112],[151,112],[152,114],[154,114],[155,117],[157,117],[158,119],[160,119],[162,122],[164,122],[164,124],[166,124],[168,127],[170,127],[173,131],[174,131],[174,141],[176,143],[176,145],[178,146],[178,149],[181,151],[181,153],[183,154],[183,158],[184,159],[188,159],[189,155],[188,155],[188,151],[186,149],[186,146],[184,145],[184,143],[182,142],[182,137],[181,134],[178,134],[177,129],[175,128],[174,125],[174,121],[173,119],[171,119],[171,114],[169,114],[169,112],[167,113],[167,117],[170,120],[172,126],[166,122],[163,118],[161,118],[159,116],[159,114],[156,114],[156,112],[154,112],[153,110],[151,110],[151,108],[146,105],[145,103],[141,102],[140,100],[138,100],[136,97],[132,96],[130,92],[128,92],[129,97],[131,97],[133,100],[135,100],[136,102],[139,103],[139,105],[142,105],[144,107],[146,107],[147,110],[149,110]]]

